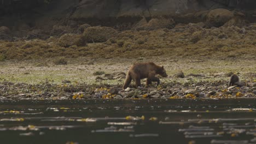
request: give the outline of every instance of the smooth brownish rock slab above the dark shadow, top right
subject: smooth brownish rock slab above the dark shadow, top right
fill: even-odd
[[[177,15],[216,8],[254,8],[253,1],[212,0],[83,0],[72,17],[120,17]]]

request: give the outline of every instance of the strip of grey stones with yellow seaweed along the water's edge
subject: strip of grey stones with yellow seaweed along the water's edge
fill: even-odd
[[[182,77],[168,77],[159,86],[152,84],[148,87],[131,85],[131,88],[122,89],[121,85],[71,83],[63,81],[57,85],[44,82],[36,85],[27,83],[13,83],[3,81],[0,84],[0,99],[221,99],[221,98],[256,98],[256,82],[248,82],[245,86],[231,86],[227,88],[228,81],[198,81],[203,75],[188,75]],[[179,82],[185,79],[186,82]]]

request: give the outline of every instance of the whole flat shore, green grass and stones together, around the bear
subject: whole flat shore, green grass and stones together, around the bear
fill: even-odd
[[[48,64],[37,67],[37,61],[6,61],[0,63],[1,76],[0,99],[197,99],[197,98],[255,98],[256,65],[254,60],[189,62],[189,59],[178,61],[162,58],[138,59],[96,59],[93,64],[83,64],[83,58],[69,59],[67,65]],[[121,87],[125,73],[135,62],[153,62],[164,65],[167,78],[160,78],[161,85],[156,83],[144,88],[130,91]],[[41,61],[43,62],[43,61]],[[207,66],[208,65],[208,66]],[[184,78],[176,77],[180,72]],[[237,74],[247,86],[227,89],[232,73]],[[133,82],[132,82],[133,83]]]

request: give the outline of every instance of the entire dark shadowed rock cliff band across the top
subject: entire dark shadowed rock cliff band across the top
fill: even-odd
[[[33,2],[32,2],[33,1]],[[172,17],[176,22],[199,22],[191,14],[216,8],[239,9],[245,13],[256,9],[253,0],[51,0],[42,3],[34,0],[0,1],[0,26],[52,27],[61,25],[114,26],[117,23],[138,22],[156,16]],[[253,10],[254,9],[254,10]],[[255,20],[255,12],[247,14]],[[199,19],[201,19],[199,15]],[[23,24],[22,24],[23,25]],[[130,25],[130,24],[129,24]]]

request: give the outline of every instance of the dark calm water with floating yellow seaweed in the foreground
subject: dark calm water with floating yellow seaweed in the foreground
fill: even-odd
[[[0,143],[256,143],[256,99],[0,101]]]

